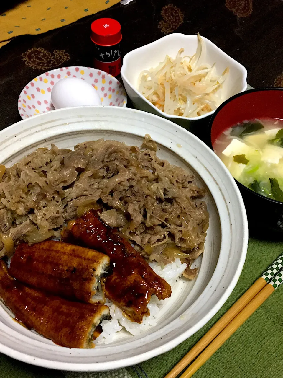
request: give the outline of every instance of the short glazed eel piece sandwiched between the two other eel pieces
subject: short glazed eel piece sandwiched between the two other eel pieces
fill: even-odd
[[[9,273],[17,280],[54,295],[87,303],[105,303],[97,292],[110,259],[94,249],[49,240],[17,246]]]

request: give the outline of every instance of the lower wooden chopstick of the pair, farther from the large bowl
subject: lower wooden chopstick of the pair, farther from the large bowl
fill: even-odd
[[[275,276],[195,359],[180,378],[190,378],[229,339],[283,282],[283,270]]]

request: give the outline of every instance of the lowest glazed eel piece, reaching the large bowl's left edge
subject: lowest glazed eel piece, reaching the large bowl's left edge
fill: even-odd
[[[0,299],[27,328],[68,348],[92,348],[109,307],[71,302],[18,282],[0,260]]]

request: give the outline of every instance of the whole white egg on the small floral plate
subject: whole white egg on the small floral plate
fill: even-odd
[[[101,105],[100,96],[91,84],[77,77],[57,81],[51,91],[55,109],[82,105]]]

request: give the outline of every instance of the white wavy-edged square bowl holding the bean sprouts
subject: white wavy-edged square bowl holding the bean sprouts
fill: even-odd
[[[224,51],[220,50],[220,48],[214,45],[209,39],[205,37],[201,38],[206,46],[206,57],[201,57],[201,59],[203,59],[202,62],[210,65],[215,63],[216,72],[219,76],[226,67],[229,67],[228,77],[221,88],[222,102],[237,93],[245,91],[247,88],[246,68],[224,53]],[[167,118],[170,121],[185,127],[191,132],[194,132],[192,126],[196,125],[196,121],[211,116],[212,113],[214,113],[214,111],[212,111],[205,115],[191,118],[168,115],[152,105],[151,102],[143,97],[138,91],[138,77],[141,71],[156,67],[165,59],[166,54],[175,57],[180,48],[185,49],[183,55],[192,56],[197,50],[197,45],[198,39],[196,34],[187,36],[185,34],[173,33],[162,37],[155,42],[149,43],[148,45],[130,51],[125,55],[121,69],[121,76],[126,92],[135,108]]]

